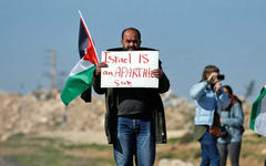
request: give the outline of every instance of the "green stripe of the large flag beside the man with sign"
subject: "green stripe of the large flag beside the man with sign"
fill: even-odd
[[[95,68],[96,66],[92,66],[75,75],[69,76],[61,93],[61,100],[65,105],[69,105],[72,100],[91,87]]]

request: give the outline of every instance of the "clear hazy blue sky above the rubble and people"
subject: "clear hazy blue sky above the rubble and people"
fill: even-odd
[[[51,50],[62,84],[79,61],[81,10],[99,56],[134,27],[142,46],[160,50],[176,95],[190,98],[204,66],[214,64],[237,95],[254,81],[253,101],[266,82],[265,8],[265,0],[0,0],[0,90],[48,89]]]

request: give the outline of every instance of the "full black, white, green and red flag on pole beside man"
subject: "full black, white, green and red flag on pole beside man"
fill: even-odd
[[[91,39],[81,12],[80,17],[79,51],[81,60],[70,72],[61,93],[61,100],[65,105],[69,105],[73,98],[83,92],[91,90],[90,87],[92,85],[95,64],[99,63],[94,43]]]

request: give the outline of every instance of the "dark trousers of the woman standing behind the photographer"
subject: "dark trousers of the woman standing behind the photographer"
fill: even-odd
[[[229,155],[231,158],[231,165],[239,166],[241,145],[242,145],[241,142],[226,144],[218,143],[217,147],[221,157],[219,166],[226,165],[227,154]]]

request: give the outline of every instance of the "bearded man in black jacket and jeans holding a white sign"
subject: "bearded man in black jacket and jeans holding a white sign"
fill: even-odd
[[[151,63],[151,68],[140,66],[142,62],[147,64],[152,61],[150,54],[156,54],[157,51],[140,46],[139,30],[125,29],[121,44],[122,48],[103,52],[103,62],[94,72],[93,87],[96,93],[105,94],[105,132],[109,143],[113,144],[116,165],[133,166],[135,155],[139,166],[152,166],[155,160],[155,144],[166,143],[165,115],[160,93],[168,90],[170,82],[158,59],[155,61],[156,65]],[[123,53],[123,56],[120,56],[119,52]],[[133,62],[135,56],[140,65]],[[115,66],[114,71],[109,70],[112,66]],[[104,79],[104,75],[116,80]],[[151,79],[157,83],[135,86],[133,82],[140,77],[141,82]],[[101,82],[114,84],[103,85]]]

